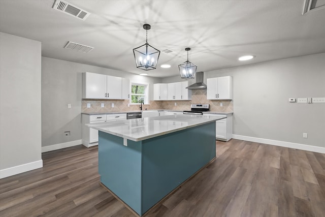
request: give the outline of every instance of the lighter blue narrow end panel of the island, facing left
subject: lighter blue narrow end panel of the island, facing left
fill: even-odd
[[[140,215],[141,141],[99,131],[98,161],[101,182]]]

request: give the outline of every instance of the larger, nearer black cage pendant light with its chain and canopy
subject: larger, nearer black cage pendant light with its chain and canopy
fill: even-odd
[[[144,24],[143,28],[146,29],[147,32],[146,43],[133,49],[133,54],[137,68],[147,71],[156,68],[160,51],[148,44],[148,30],[151,26],[149,24]]]

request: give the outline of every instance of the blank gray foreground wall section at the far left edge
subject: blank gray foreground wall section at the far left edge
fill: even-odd
[[[41,156],[41,42],[0,33],[0,169]]]

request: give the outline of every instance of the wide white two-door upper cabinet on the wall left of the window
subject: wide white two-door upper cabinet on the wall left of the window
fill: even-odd
[[[122,78],[90,72],[82,77],[83,99],[122,99]]]

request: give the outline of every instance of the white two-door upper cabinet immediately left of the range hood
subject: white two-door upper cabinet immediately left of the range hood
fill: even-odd
[[[168,83],[168,100],[190,100],[191,90],[186,87],[189,86],[188,81]]]

